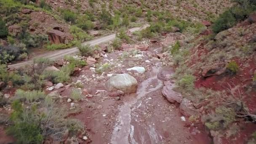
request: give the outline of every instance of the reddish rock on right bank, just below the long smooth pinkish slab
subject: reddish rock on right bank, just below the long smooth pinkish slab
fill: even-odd
[[[192,103],[186,98],[182,99],[181,104],[179,105],[179,110],[183,115],[188,117],[191,115],[200,115],[200,112],[197,111]]]

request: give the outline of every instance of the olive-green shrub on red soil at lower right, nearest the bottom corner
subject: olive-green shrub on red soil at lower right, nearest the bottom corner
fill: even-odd
[[[235,121],[235,110],[224,106],[217,107],[214,114],[206,117],[205,126],[210,130],[219,130],[227,128]]]

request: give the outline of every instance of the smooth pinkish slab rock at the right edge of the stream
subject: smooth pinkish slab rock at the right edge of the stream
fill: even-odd
[[[162,93],[166,97],[166,99],[171,103],[175,103],[175,102],[181,103],[182,96],[181,94],[173,91],[173,87],[174,87],[173,85],[165,85],[162,89]]]

